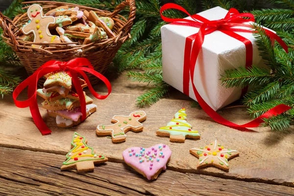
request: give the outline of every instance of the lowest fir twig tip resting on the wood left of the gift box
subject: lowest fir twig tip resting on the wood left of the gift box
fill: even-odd
[[[162,84],[157,87],[145,92],[143,95],[139,96],[137,100],[137,106],[143,107],[145,105],[152,105],[156,103],[159,99],[163,98],[166,93],[168,93],[168,85]]]

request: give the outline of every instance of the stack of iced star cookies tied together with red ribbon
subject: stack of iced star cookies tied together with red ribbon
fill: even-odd
[[[43,89],[37,90],[37,95],[44,98],[42,107],[47,109],[49,116],[56,118],[57,126],[72,127],[81,123],[80,100],[72,84],[71,76],[64,72],[49,73]],[[82,88],[87,83],[78,78]],[[97,105],[84,92],[87,117],[96,111]]]

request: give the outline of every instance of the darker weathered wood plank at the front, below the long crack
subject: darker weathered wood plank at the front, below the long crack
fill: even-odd
[[[294,188],[167,170],[147,181],[125,164],[107,162],[94,172],[60,171],[65,156],[0,147],[3,195],[294,196]],[[13,160],[13,161],[12,161]]]

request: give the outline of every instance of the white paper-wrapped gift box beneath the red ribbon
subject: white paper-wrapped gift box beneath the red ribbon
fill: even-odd
[[[214,7],[200,12],[198,15],[212,21],[224,18],[227,12],[221,7]],[[187,19],[191,18],[187,17]],[[247,27],[243,28],[249,29]],[[183,92],[186,38],[197,33],[198,30],[199,28],[183,25],[164,25],[161,27],[163,80],[181,92]],[[252,65],[264,67],[262,57],[259,56],[256,39],[252,33],[234,32],[251,41],[253,46]],[[196,62],[194,84],[201,97],[214,110],[218,110],[241,97],[241,87],[226,88],[225,85],[221,85],[220,79],[225,70],[245,67],[245,51],[243,42],[221,31],[216,30],[205,35],[204,43]],[[191,78],[189,92],[189,96],[196,100]]]

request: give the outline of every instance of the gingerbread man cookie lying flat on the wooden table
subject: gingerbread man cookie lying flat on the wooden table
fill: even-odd
[[[129,116],[116,115],[112,118],[110,125],[98,124],[97,135],[111,135],[112,142],[125,141],[125,133],[129,130],[139,132],[143,130],[141,122],[146,120],[144,111],[132,112]]]

